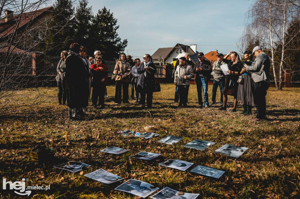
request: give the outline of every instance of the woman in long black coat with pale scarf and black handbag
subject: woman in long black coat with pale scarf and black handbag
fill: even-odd
[[[145,54],[144,62],[137,68],[140,76],[137,79],[137,90],[140,92],[140,104],[145,107],[145,100],[147,94],[147,108],[152,107],[153,91],[155,90],[155,76],[156,66],[149,54]]]

